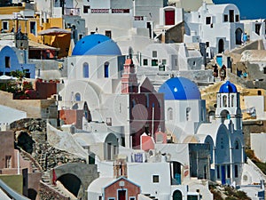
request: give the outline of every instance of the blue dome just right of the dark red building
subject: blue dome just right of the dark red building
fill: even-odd
[[[164,93],[165,100],[200,100],[200,90],[197,84],[184,77],[168,79],[160,86],[158,92]]]

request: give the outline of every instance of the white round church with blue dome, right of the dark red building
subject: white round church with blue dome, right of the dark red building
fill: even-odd
[[[160,86],[158,92],[164,93],[166,122],[183,127],[182,130],[176,130],[176,142],[183,142],[184,133],[194,134],[199,125],[206,122],[205,100],[201,100],[197,84],[190,79],[170,78]]]

